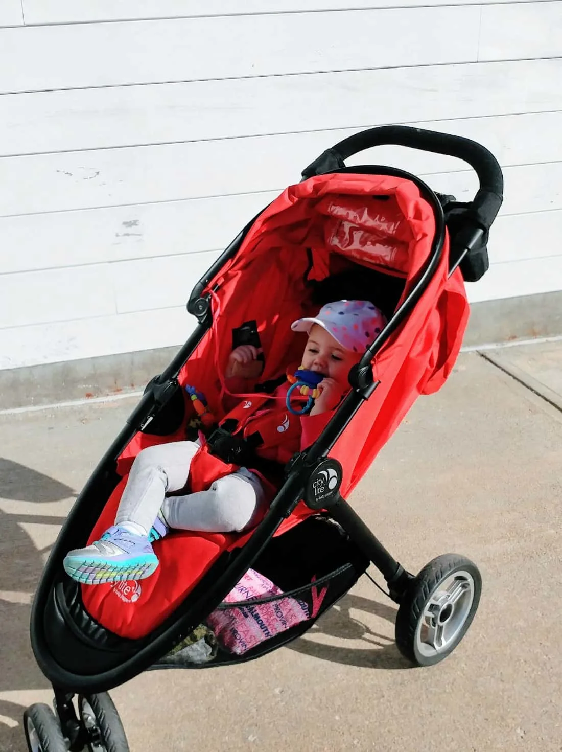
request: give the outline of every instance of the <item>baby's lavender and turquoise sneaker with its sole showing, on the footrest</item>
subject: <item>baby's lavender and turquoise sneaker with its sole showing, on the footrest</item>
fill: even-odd
[[[63,566],[73,580],[98,585],[144,580],[155,572],[158,558],[146,536],[113,526],[91,546],[70,551]]]

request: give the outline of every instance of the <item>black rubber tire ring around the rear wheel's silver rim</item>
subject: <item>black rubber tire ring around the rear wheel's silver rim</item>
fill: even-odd
[[[440,584],[455,572],[467,572],[473,579],[473,601],[467,611],[467,616],[461,624],[455,638],[447,644],[446,648],[435,651],[434,654],[421,653],[418,649],[416,632],[418,625],[423,618],[425,606],[428,604],[431,596]],[[394,625],[394,635],[396,644],[400,653],[408,660],[415,663],[416,666],[434,666],[440,663],[455,650],[461,639],[467,633],[476,609],[480,602],[482,593],[482,577],[479,569],[466,556],[458,556],[456,553],[444,553],[443,556],[437,556],[421,570],[421,572],[411,581],[405,596],[400,602],[400,608],[396,615]]]

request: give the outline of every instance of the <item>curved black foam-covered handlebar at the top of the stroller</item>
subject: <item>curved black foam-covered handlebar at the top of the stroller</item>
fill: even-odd
[[[503,175],[494,155],[470,138],[409,126],[370,128],[344,138],[339,144],[327,149],[303,170],[303,177],[306,179],[341,169],[346,166],[344,160],[353,154],[382,144],[447,154],[467,162],[476,171],[480,183],[473,199],[473,208],[479,212],[486,228],[491,226],[503,201]]]

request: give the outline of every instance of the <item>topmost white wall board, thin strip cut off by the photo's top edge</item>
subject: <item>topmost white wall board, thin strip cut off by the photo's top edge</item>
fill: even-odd
[[[415,5],[470,5],[481,0],[346,0],[345,7],[392,8]],[[484,0],[491,2],[491,0]],[[496,0],[497,2],[497,0]],[[499,0],[512,2],[512,0]],[[517,2],[517,0],[515,0]],[[521,0],[524,2],[524,0]],[[26,23],[83,23],[149,18],[340,11],[342,0],[23,0]]]

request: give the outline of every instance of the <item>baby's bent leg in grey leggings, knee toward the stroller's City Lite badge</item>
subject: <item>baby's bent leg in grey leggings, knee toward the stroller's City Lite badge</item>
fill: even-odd
[[[168,496],[162,514],[170,527],[196,532],[241,531],[264,512],[265,494],[258,476],[240,468],[214,481],[207,491]]]

